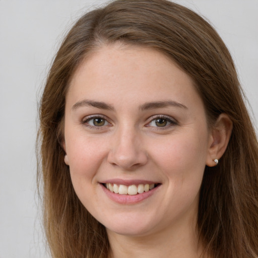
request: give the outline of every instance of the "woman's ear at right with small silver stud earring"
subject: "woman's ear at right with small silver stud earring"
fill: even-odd
[[[211,129],[210,142],[206,165],[216,166],[215,159],[219,160],[224,154],[231,136],[233,123],[227,114],[220,114],[215,126]]]

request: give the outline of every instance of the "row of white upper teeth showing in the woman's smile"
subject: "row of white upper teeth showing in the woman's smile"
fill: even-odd
[[[112,184],[107,183],[106,188],[109,189],[112,192],[119,193],[119,195],[137,195],[137,193],[143,193],[144,191],[152,190],[155,187],[155,184],[132,184],[129,186],[123,185],[123,184]]]

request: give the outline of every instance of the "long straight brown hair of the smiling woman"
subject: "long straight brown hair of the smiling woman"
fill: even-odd
[[[195,82],[209,125],[221,113],[232,120],[225,154],[218,166],[204,172],[197,230],[207,256],[257,257],[258,147],[234,63],[209,23],[166,0],[118,0],[85,14],[55,56],[40,102],[38,132],[38,184],[52,256],[108,256],[105,228],[77,198],[60,143],[72,76],[87,54],[115,41],[168,55]]]

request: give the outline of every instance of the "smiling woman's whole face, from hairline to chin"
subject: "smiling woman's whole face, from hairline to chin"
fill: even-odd
[[[114,44],[87,58],[67,93],[64,139],[75,191],[108,232],[196,221],[213,140],[192,80],[162,53]]]

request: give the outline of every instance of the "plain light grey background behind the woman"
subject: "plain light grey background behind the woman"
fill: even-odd
[[[0,258],[49,257],[36,195],[37,99],[66,29],[104,2],[0,0]],[[206,16],[218,30],[257,119],[258,0],[176,2]]]

